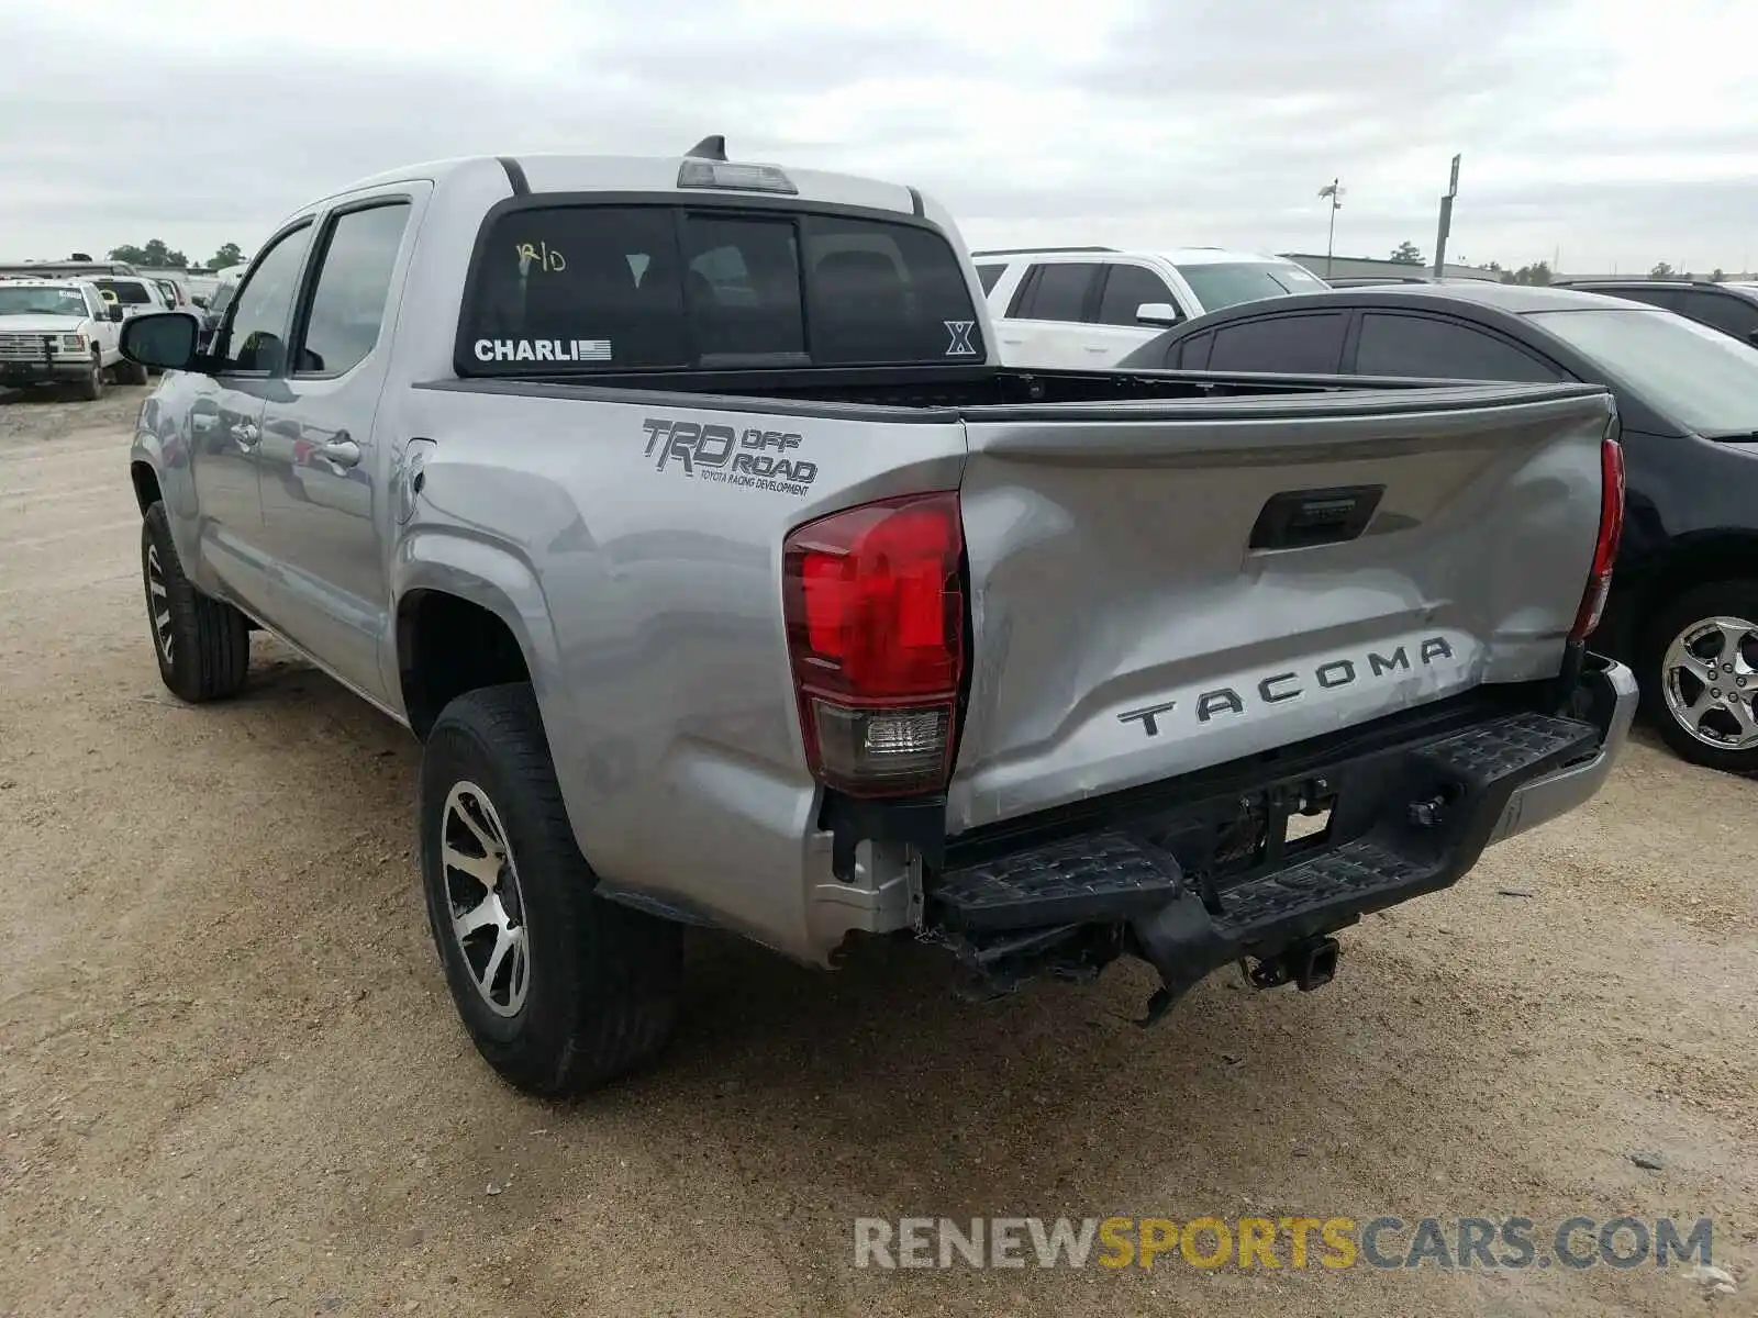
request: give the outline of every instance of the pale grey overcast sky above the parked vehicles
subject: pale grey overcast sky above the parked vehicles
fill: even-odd
[[[1071,18],[1078,14],[1078,18]],[[682,153],[914,183],[974,246],[1758,262],[1753,0],[0,0],[0,257],[246,251],[448,155]]]

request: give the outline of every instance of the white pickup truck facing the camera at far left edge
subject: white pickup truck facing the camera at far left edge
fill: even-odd
[[[0,278],[0,385],[69,385],[81,399],[102,397],[111,373],[144,385],[118,346],[121,320],[90,279]]]

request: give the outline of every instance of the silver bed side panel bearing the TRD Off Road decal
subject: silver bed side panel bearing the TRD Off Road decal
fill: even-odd
[[[592,870],[816,960],[807,894],[828,868],[814,852],[782,541],[851,504],[956,489],[956,416],[897,424],[883,415],[895,409],[788,415],[585,387],[417,392],[431,409],[417,425],[436,441],[422,534],[529,564],[520,608],[554,634],[552,654],[529,655],[533,678]]]

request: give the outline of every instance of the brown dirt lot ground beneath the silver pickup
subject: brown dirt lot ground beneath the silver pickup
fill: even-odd
[[[1326,991],[1218,975],[1150,1033],[1134,967],[967,1007],[926,951],[819,975],[701,938],[668,1065],[547,1107],[447,1002],[413,740],[264,638],[232,705],[160,687],[142,394],[0,401],[0,1311],[1758,1313],[1758,784],[1644,742],[1593,808],[1347,933]],[[1623,1213],[1714,1218],[1737,1290],[853,1265],[856,1216],[1519,1214],[1542,1242]]]

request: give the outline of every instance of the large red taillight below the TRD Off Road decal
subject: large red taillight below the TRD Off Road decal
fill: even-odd
[[[782,608],[812,773],[851,796],[939,791],[965,670],[956,494],[847,508],[782,547]]]

